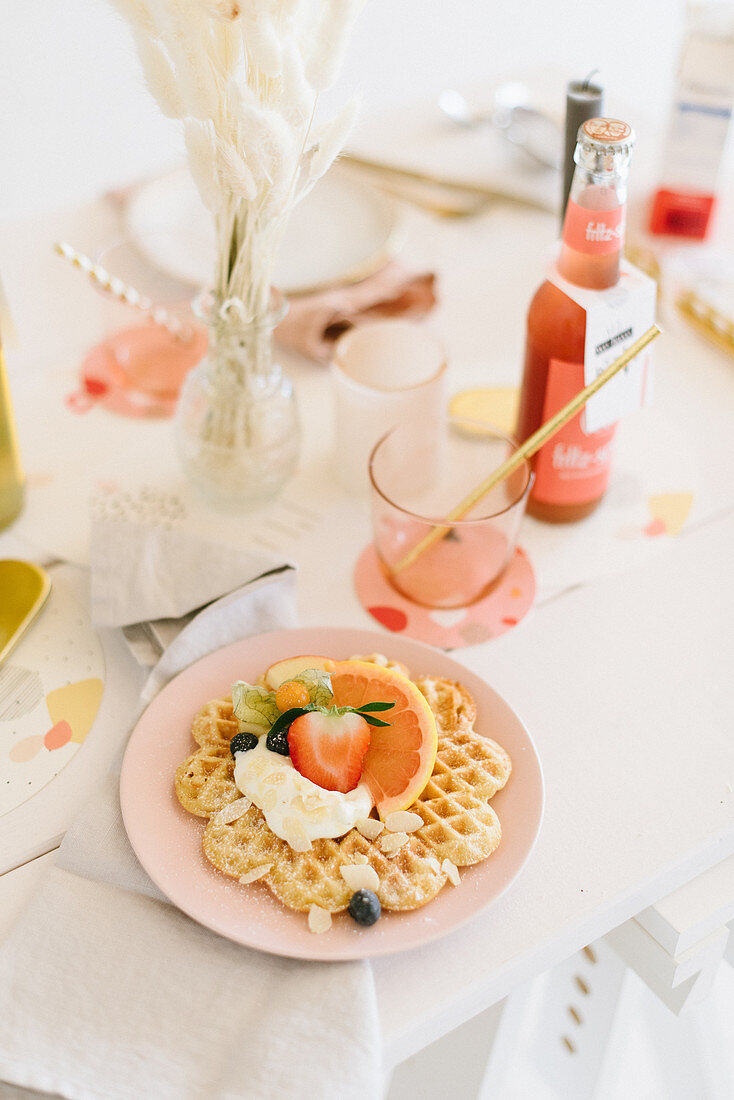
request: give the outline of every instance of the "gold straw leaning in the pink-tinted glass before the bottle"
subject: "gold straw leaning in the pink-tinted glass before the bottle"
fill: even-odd
[[[559,409],[550,420],[546,420],[537,431],[534,431],[529,436],[522,447],[518,447],[516,451],[510,455],[501,466],[490,474],[480,485],[476,486],[468,496],[461,501],[460,504],[452,508],[451,512],[446,517],[446,527],[435,527],[431,531],[426,535],[420,542],[414,546],[413,550],[408,550],[405,557],[401,558],[396,565],[393,566],[393,573],[399,573],[401,570],[407,569],[412,565],[421,553],[435,546],[436,542],[440,542],[448,532],[451,530],[451,525],[456,522],[457,519],[462,519],[471,508],[478,504],[482,497],[486,496],[495,485],[499,485],[501,481],[504,481],[508,474],[514,473],[518,466],[529,459],[536,451],[540,450],[544,443],[547,443],[551,436],[555,436],[559,428],[562,428],[567,420],[570,420],[572,416],[582,408],[590,397],[592,397],[602,386],[606,385],[610,378],[613,378],[624,366],[629,363],[635,355],[638,355],[644,348],[647,348],[648,343],[651,343],[656,337],[660,336],[660,330],[657,324],[654,324],[651,329],[648,329],[639,340],[635,340],[634,343],[629,344],[627,350],[615,359],[613,363],[602,371],[593,382],[590,382],[588,386],[579,391],[576,397],[572,397],[568,405],[565,405],[562,409]]]

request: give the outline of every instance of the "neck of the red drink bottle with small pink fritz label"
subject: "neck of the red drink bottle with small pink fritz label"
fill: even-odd
[[[558,272],[569,283],[601,290],[618,282],[626,201],[626,170],[577,167],[558,256]]]

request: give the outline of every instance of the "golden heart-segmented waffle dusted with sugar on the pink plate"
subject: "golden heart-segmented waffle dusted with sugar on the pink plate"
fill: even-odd
[[[338,912],[353,892],[340,875],[344,864],[374,868],[380,879],[375,892],[384,909],[412,910],[429,902],[445,884],[445,859],[465,867],[491,855],[502,833],[487,802],[510,777],[510,757],[474,733],[476,711],[465,688],[434,678],[415,682],[435,714],[438,750],[431,778],[410,807],[424,824],[395,855],[383,854],[382,837],[369,840],[357,829],[333,840],[315,840],[308,851],[294,851],[254,805],[234,822],[219,820],[217,812],[240,798],[229,750],[238,727],[231,700],[223,698],[207,703],[195,716],[191,732],[199,748],[176,771],[176,794],[184,809],[211,818],[204,831],[206,858],[237,879],[269,867],[261,881],[285,905]]]

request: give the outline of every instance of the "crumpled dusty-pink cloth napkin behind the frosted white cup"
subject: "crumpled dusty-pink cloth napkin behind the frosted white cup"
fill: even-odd
[[[393,262],[351,286],[293,298],[276,338],[287,348],[328,363],[348,329],[385,317],[425,317],[436,305],[436,276],[406,272]]]

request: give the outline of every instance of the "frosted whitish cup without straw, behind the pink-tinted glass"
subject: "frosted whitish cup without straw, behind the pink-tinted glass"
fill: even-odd
[[[351,493],[366,495],[372,449],[404,427],[406,446],[439,419],[446,356],[436,338],[412,321],[373,321],[339,340],[331,364],[335,394],[335,472]]]

